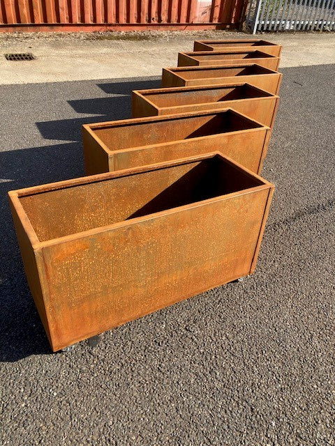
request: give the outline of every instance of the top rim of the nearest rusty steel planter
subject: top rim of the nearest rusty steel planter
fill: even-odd
[[[192,162],[209,160],[214,157],[219,157],[219,158],[225,160],[229,164],[233,165],[235,168],[239,169],[240,171],[243,171],[244,174],[246,174],[247,176],[251,176],[252,178],[255,178],[261,184],[254,186],[254,187],[249,187],[245,190],[231,192],[230,194],[224,194],[224,195],[220,195],[218,197],[212,197],[210,199],[205,199],[202,201],[195,201],[194,203],[188,203],[184,206],[176,206],[175,208],[161,210],[159,212],[144,215],[142,217],[135,217],[130,220],[124,220],[122,222],[112,223],[112,224],[109,224],[106,226],[98,226],[93,229],[88,229],[86,231],[81,231],[78,233],[72,233],[72,234],[69,234],[68,236],[62,236],[59,238],[52,238],[50,240],[45,240],[43,242],[40,242],[40,240],[38,239],[38,236],[37,236],[33,226],[31,225],[29,217],[27,216],[27,213],[25,212],[24,207],[22,206],[22,203],[20,202],[20,197],[25,197],[27,195],[35,195],[35,194],[41,194],[43,192],[51,192],[53,190],[67,189],[69,187],[76,187],[76,186],[80,186],[80,185],[86,185],[89,183],[98,183],[98,182],[110,180],[113,178],[119,178],[119,177],[123,177],[123,176],[132,176],[132,175],[141,174],[141,173],[144,173],[147,171],[154,171],[154,170],[158,170],[158,169],[174,167],[174,166],[178,166],[180,164],[191,164]],[[31,243],[33,249],[40,249],[40,248],[47,247],[50,245],[66,243],[68,240],[76,240],[76,239],[80,239],[83,237],[94,235],[96,233],[110,231],[112,229],[116,229],[116,228],[119,228],[122,226],[131,226],[131,225],[136,224],[137,222],[140,222],[140,221],[154,220],[156,218],[160,218],[165,215],[182,212],[183,210],[186,210],[186,209],[197,208],[199,206],[206,206],[208,203],[213,203],[216,201],[230,199],[231,197],[235,197],[237,195],[250,194],[250,193],[258,191],[258,190],[266,189],[269,186],[274,187],[274,185],[272,183],[269,183],[269,181],[258,176],[257,174],[254,174],[252,171],[250,171],[249,169],[246,169],[246,167],[243,167],[241,164],[235,162],[230,157],[223,156],[223,155],[221,155],[221,153],[218,153],[218,152],[212,152],[212,153],[209,153],[206,155],[183,158],[181,160],[175,160],[175,161],[170,161],[170,162],[160,162],[160,163],[156,163],[156,164],[149,164],[147,166],[142,166],[142,167],[124,169],[121,171],[106,172],[105,174],[84,176],[84,177],[80,177],[80,178],[73,178],[71,180],[58,181],[56,183],[47,183],[45,185],[26,187],[24,189],[19,189],[19,190],[11,190],[8,192],[8,197],[9,197],[11,203],[13,204],[13,206],[17,212],[17,215],[20,217],[22,226],[24,227],[24,231],[27,233],[27,236],[30,240],[30,243]]]

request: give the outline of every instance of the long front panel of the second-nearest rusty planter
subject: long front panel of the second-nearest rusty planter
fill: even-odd
[[[247,169],[258,173],[262,162],[267,130],[248,130],[230,134],[214,135],[202,139],[185,139],[172,144],[157,144],[147,148],[133,149],[114,154],[114,169],[156,164],[181,158],[219,152],[231,157]]]

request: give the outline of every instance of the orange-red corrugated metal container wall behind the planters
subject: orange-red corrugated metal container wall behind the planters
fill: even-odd
[[[236,28],[243,10],[244,0],[0,0],[0,31]]]

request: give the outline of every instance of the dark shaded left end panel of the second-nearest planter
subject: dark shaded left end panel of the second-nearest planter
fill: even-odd
[[[104,174],[113,164],[112,158],[103,150],[88,130],[82,127],[82,144],[84,147],[86,175]]]

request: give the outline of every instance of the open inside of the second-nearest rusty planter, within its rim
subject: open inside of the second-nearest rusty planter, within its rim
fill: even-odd
[[[261,124],[227,109],[215,114],[179,115],[175,118],[158,118],[142,122],[137,120],[126,125],[102,123],[101,126],[94,125],[91,130],[105,144],[108,151],[113,152],[261,127]]]

